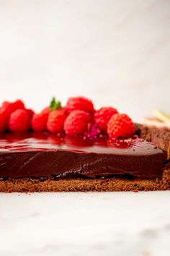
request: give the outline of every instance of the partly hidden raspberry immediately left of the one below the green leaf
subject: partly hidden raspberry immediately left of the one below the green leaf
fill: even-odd
[[[47,129],[48,122],[48,111],[42,111],[39,114],[34,114],[32,116],[32,129],[35,132],[45,132]]]

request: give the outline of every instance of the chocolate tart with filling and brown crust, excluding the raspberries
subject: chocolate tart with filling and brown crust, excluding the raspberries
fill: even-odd
[[[33,133],[0,137],[1,192],[170,189],[170,132],[135,124],[125,140]]]

